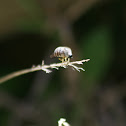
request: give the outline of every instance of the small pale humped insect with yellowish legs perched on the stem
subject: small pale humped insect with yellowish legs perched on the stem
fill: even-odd
[[[50,57],[59,57],[59,60],[62,62],[70,62],[72,50],[69,47],[60,46],[54,50],[54,53]]]

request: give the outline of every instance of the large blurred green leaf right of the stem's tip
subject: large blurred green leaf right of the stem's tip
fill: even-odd
[[[89,83],[96,83],[103,79],[111,63],[112,56],[112,33],[109,27],[95,27],[82,38],[82,55],[91,60],[86,63],[85,80]]]

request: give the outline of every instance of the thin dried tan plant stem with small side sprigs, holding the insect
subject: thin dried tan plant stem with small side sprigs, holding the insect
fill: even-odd
[[[79,72],[80,72],[80,70],[85,71],[83,68],[77,67],[77,66],[75,66],[73,64],[83,64],[83,62],[88,62],[89,60],[90,59],[85,59],[85,60],[81,60],[81,61],[55,63],[55,64],[50,64],[50,65],[44,65],[44,61],[42,61],[42,65],[38,65],[38,66],[35,66],[35,67],[32,67],[32,68],[28,68],[28,69],[24,69],[24,70],[19,70],[19,71],[10,73],[10,74],[8,74],[8,75],[6,75],[4,77],[1,77],[0,78],[0,84],[4,83],[5,81],[8,81],[8,80],[10,80],[12,78],[15,78],[17,76],[20,76],[20,75],[23,75],[23,74],[27,74],[27,73],[30,73],[30,72],[34,72],[34,71],[43,70],[46,73],[52,72],[48,68],[51,68],[51,69],[54,68],[54,69],[58,70],[59,67],[66,68],[67,66],[71,66],[71,67],[73,67],[75,70],[77,70]]]

